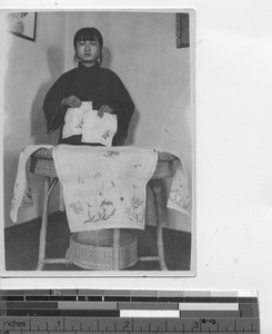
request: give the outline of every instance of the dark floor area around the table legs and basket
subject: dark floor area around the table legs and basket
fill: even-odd
[[[34,271],[38,261],[39,219],[16,225],[4,230],[6,269]],[[157,255],[155,229],[130,229],[138,238],[138,256]],[[66,215],[56,213],[49,218],[47,237],[47,257],[64,257],[69,247],[70,232]],[[189,271],[191,253],[191,234],[163,230],[165,263],[169,271]],[[82,271],[73,264],[47,264],[44,271]],[[158,262],[138,262],[125,271],[160,271]]]

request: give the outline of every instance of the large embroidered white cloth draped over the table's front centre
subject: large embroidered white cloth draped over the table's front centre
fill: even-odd
[[[52,153],[72,233],[144,228],[145,186],[158,160],[153,149],[59,145]]]

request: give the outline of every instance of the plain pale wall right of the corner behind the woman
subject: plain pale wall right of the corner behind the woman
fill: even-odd
[[[98,28],[104,39],[103,67],[120,76],[135,104],[125,144],[182,153],[191,179],[191,49],[175,48],[175,13],[70,12],[68,22],[66,69],[74,67],[74,32],[82,27]],[[169,210],[163,218],[175,228],[191,229],[183,214]]]

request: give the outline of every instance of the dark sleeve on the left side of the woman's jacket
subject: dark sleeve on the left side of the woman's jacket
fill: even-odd
[[[47,130],[52,132],[64,124],[66,107],[61,101],[67,97],[67,76],[61,76],[49,89],[44,101],[43,112],[47,118]]]

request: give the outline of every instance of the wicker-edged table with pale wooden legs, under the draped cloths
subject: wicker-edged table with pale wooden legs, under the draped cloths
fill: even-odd
[[[167,271],[164,261],[164,247],[162,235],[162,204],[161,204],[161,189],[162,180],[172,177],[174,174],[174,160],[177,157],[169,153],[158,153],[158,163],[152,178],[149,181],[154,199],[155,199],[155,219],[157,219],[157,256],[139,257],[138,261],[159,261],[161,271]],[[44,178],[44,197],[42,209],[42,223],[40,230],[39,242],[39,259],[37,271],[42,271],[44,264],[70,264],[69,258],[46,258],[46,243],[47,243],[47,228],[48,228],[48,207],[50,195],[58,183],[58,175],[54,168],[52,158],[52,149],[41,148],[31,156],[30,171],[34,175]],[[119,271],[119,256],[120,256],[120,228],[114,229],[113,234],[113,269]]]

